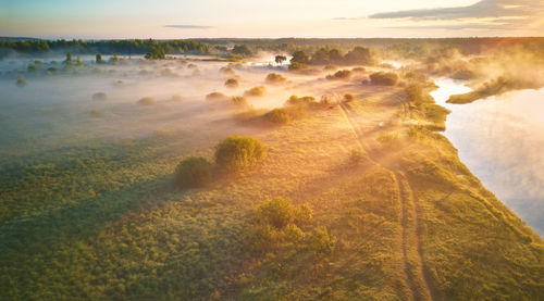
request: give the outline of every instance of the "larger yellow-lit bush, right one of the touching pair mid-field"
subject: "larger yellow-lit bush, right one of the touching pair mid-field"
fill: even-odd
[[[230,136],[215,147],[215,163],[228,173],[257,165],[267,156],[267,148],[252,137]]]

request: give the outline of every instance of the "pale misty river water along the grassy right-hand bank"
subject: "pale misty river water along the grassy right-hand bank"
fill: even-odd
[[[462,163],[544,236],[544,89],[449,104],[450,95],[471,89],[449,78],[435,83],[431,96],[452,111],[444,135]]]

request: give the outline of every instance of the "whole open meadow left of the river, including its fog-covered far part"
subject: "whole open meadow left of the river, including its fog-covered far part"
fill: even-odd
[[[438,133],[448,111],[432,80],[379,64],[288,71],[268,57],[44,67],[24,87],[5,75],[0,299],[543,296],[544,241]],[[392,72],[393,85],[373,83]],[[181,160],[213,162],[233,135],[267,156],[176,185]],[[311,213],[267,224],[279,197]]]

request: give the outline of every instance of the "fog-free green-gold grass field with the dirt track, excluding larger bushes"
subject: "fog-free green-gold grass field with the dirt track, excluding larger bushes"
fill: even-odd
[[[286,125],[222,117],[10,153],[0,161],[0,299],[542,298],[542,239],[435,131],[447,110],[359,79],[312,78],[319,92],[354,99]],[[206,188],[174,185],[183,158],[212,159],[228,135],[259,139],[267,159]],[[308,204],[311,220],[259,233],[257,208],[276,197]]]

